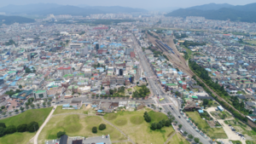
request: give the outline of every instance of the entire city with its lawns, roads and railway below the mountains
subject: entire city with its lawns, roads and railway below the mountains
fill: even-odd
[[[256,143],[254,22],[155,11],[4,21],[0,143]]]

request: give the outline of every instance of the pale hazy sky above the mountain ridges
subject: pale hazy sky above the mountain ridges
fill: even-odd
[[[29,3],[58,3],[63,5],[87,4],[90,6],[125,6],[131,8],[187,8],[195,5],[207,3],[230,3],[233,5],[244,5],[256,3],[255,0],[1,0],[0,7],[9,4],[29,4]]]

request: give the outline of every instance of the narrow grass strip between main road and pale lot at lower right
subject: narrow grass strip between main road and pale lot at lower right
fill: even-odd
[[[199,130],[202,130],[205,134],[210,136],[212,139],[217,138],[227,138],[226,133],[224,132],[223,128],[211,128],[207,121],[202,119],[198,112],[186,112],[192,120],[194,120],[195,124]]]

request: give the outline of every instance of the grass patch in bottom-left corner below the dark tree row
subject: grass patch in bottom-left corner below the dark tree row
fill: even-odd
[[[27,144],[27,142],[32,139],[32,137],[36,135],[36,133],[24,132],[19,133],[16,132],[11,135],[4,135],[0,138],[0,143],[3,144]]]

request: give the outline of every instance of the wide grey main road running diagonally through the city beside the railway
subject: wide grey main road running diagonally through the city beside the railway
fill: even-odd
[[[157,78],[155,77],[154,72],[149,66],[145,55],[143,55],[143,51],[141,47],[138,45],[135,37],[133,37],[133,41],[136,47],[135,50],[137,51],[137,55],[140,59],[140,65],[143,66],[144,72],[147,73],[148,83],[154,95],[159,95],[159,98],[164,98],[163,101],[159,101],[159,104],[163,107],[164,111],[172,112],[172,115],[174,116],[174,118],[177,119],[177,123],[183,125],[183,128],[182,128],[183,131],[187,131],[189,134],[194,135],[195,137],[198,137],[203,144],[210,143],[211,140],[209,138],[207,139],[204,136],[200,135],[197,131],[195,131],[195,129],[192,128],[192,126],[187,122],[187,120],[181,116],[178,107],[177,109],[169,107],[169,105],[171,105],[170,103],[172,103],[172,101],[169,100],[169,95],[166,95],[166,93],[163,92],[160,84],[158,84]],[[175,100],[174,98],[172,100],[177,101],[177,99]],[[180,118],[178,118],[178,116],[180,116]]]

